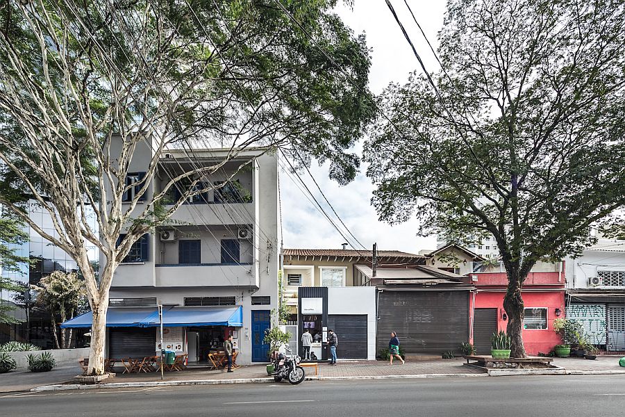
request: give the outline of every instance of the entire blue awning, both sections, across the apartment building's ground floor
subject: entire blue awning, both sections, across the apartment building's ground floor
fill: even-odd
[[[91,327],[91,311],[67,320],[61,327]],[[158,327],[158,310],[155,307],[111,307],[106,313],[106,327]],[[243,327],[243,307],[182,307],[165,306],[163,327],[230,326]]]

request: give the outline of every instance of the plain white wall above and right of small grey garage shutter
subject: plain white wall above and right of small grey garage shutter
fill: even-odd
[[[376,359],[376,288],[328,288],[328,314],[367,315],[367,359]]]

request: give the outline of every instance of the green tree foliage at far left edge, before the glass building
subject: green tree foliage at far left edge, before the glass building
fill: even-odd
[[[19,256],[15,252],[15,246],[21,245],[27,236],[22,229],[22,224],[10,215],[0,218],[0,295],[3,292],[22,291],[18,283],[8,277],[10,272],[19,272],[21,263],[28,263],[28,258]],[[15,304],[0,298],[0,323],[12,324],[19,322],[10,311],[15,310]]]

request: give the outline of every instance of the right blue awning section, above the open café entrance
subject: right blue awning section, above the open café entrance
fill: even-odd
[[[158,314],[150,326],[159,326]],[[230,326],[243,327],[243,307],[181,307],[163,311],[163,327]]]

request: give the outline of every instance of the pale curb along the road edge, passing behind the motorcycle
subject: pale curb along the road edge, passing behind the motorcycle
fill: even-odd
[[[424,378],[463,378],[486,377],[487,374],[416,374],[416,375],[378,375],[369,377],[306,377],[306,381],[360,381],[367,379],[424,379]],[[184,385],[227,385],[227,384],[267,384],[275,383],[273,378],[239,378],[239,379],[196,379],[189,381],[154,381],[154,382],[110,382],[108,384],[65,384],[45,385],[31,389],[31,392],[69,391],[77,389],[119,389],[119,388],[150,388],[158,386]]]

